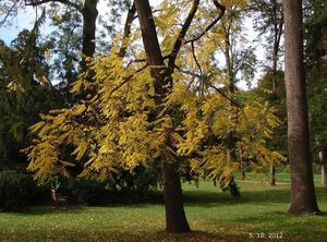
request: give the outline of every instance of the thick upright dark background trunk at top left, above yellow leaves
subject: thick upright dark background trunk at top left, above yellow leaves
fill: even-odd
[[[87,70],[85,58],[93,57],[96,48],[96,20],[98,16],[97,2],[98,0],[85,0],[84,7],[81,11],[83,15],[82,71]]]

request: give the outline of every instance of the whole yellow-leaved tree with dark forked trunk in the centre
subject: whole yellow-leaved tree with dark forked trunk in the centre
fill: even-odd
[[[104,180],[159,159],[167,230],[186,232],[181,167],[225,185],[242,161],[277,162],[283,157],[267,149],[265,141],[278,120],[268,104],[239,104],[226,93],[221,71],[211,61],[218,48],[211,36],[223,16],[222,4],[164,0],[154,16],[148,1],[134,3],[140,25],[133,25],[129,45],[122,41],[121,47],[129,56],[122,57],[116,46],[94,60],[94,80],[81,76],[72,88],[90,89],[90,95],[70,109],[43,114],[32,126],[37,138],[26,149],[28,170],[43,183],[58,174],[69,177],[70,167],[80,162],[81,176]],[[231,130],[238,138],[235,158],[228,162],[225,143]],[[63,149],[71,150],[69,158]]]

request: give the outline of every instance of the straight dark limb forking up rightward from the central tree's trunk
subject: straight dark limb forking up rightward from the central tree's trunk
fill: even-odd
[[[194,0],[193,1],[192,9],[191,9],[191,11],[190,11],[184,24],[183,24],[183,27],[180,31],[180,34],[179,34],[177,40],[174,41],[172,51],[171,51],[169,60],[168,60],[168,68],[170,68],[170,69],[173,69],[173,66],[174,66],[174,61],[175,61],[177,55],[181,49],[182,43],[185,38],[185,35],[186,35],[186,33],[187,33],[187,31],[191,26],[191,23],[192,23],[194,16],[195,16],[195,13],[196,13],[197,9],[198,9],[198,3],[199,3],[199,0]]]

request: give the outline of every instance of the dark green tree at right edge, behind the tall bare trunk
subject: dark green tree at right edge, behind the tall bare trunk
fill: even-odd
[[[305,60],[308,84],[308,101],[311,113],[312,152],[322,169],[322,183],[327,187],[327,140],[326,111],[327,105],[327,35],[326,4],[313,0],[305,2]]]

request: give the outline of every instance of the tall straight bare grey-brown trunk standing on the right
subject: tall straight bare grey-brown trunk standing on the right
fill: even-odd
[[[284,73],[288,145],[291,166],[290,214],[318,213],[308,143],[308,119],[303,68],[302,1],[283,0]]]

